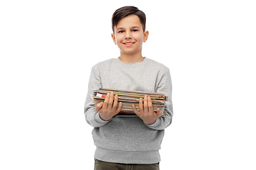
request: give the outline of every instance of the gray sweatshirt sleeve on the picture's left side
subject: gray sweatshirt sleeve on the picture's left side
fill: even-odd
[[[102,125],[106,125],[109,121],[102,120],[100,113],[97,113],[95,109],[95,103],[92,99],[94,89],[99,89],[102,86],[100,80],[100,70],[97,65],[92,67],[90,74],[90,80],[88,85],[88,92],[85,100],[85,120],[93,128],[100,128]]]

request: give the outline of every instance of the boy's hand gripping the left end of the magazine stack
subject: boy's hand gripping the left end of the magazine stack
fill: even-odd
[[[113,98],[114,98],[114,104],[113,104]],[[118,96],[114,96],[114,92],[107,93],[107,96],[105,98],[104,102],[97,103],[96,105],[96,111],[100,113],[100,118],[102,120],[110,120],[114,115],[117,115],[119,111],[121,111],[122,108],[122,102],[119,103],[119,106],[117,108],[117,101]]]

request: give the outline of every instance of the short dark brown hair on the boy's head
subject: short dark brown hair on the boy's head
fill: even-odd
[[[124,6],[122,8],[118,8],[114,11],[112,16],[112,30],[114,33],[114,26],[117,26],[117,23],[122,20],[122,18],[129,15],[136,15],[139,17],[139,21],[142,23],[143,31],[146,30],[146,15],[143,11],[140,11],[139,8],[135,6]]]

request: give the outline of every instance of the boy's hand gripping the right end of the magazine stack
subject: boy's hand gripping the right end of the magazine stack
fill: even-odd
[[[139,111],[134,105],[132,105],[132,109],[147,125],[155,123],[156,119],[160,118],[162,114],[160,108],[157,108],[156,112],[154,112],[150,96],[144,96],[144,103],[142,98],[139,98]]]

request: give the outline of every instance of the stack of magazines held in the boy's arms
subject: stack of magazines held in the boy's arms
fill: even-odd
[[[96,89],[93,92],[93,99],[95,101],[95,105],[102,101],[104,102],[107,93],[114,92],[114,95],[117,94],[118,103],[122,102],[122,110],[118,115],[135,115],[134,111],[132,110],[132,105],[134,105],[139,111],[139,98],[143,98],[144,100],[144,96],[150,96],[154,111],[156,111],[157,108],[160,108],[162,111],[162,115],[165,116],[164,105],[168,100],[168,96],[165,96],[164,94],[151,93],[145,91],[124,91],[105,88]]]

